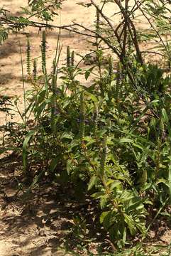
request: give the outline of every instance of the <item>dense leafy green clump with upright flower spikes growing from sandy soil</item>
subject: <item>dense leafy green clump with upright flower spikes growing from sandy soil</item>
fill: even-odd
[[[140,232],[145,237],[148,205],[157,203],[151,202],[151,193],[157,201],[160,196],[161,202],[170,194],[170,128],[165,105],[170,77],[162,78],[157,66],[137,68],[137,88],[148,102],[142,110],[142,94],[134,93],[126,74],[118,80],[118,75],[111,72],[111,58],[100,80],[83,87],[77,75],[84,70],[74,65],[74,54],[71,57],[67,49],[67,65],[62,68],[58,68],[57,55],[60,46],[53,71],[48,74],[42,53],[43,86],[39,85],[42,76],[35,75],[35,71],[31,78],[34,89],[28,94],[25,114],[34,114],[35,125],[26,129],[24,172],[30,176],[31,163],[37,162],[41,170],[33,184],[42,176],[63,186],[70,183],[75,189],[81,182],[79,193],[88,191],[99,202],[100,223],[111,240],[122,247],[129,235]],[[85,75],[91,72],[90,68]],[[155,73],[160,75],[155,77]],[[154,78],[158,84],[150,82]],[[165,85],[162,102],[157,94],[161,84]]]

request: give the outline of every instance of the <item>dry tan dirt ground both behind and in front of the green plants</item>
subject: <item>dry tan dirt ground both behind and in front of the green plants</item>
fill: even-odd
[[[84,1],[85,2],[85,1]],[[89,2],[89,1],[87,1]],[[84,9],[77,5],[77,1],[68,0],[63,5],[60,16],[55,19],[55,23],[70,24],[72,20],[84,22],[85,26],[91,26],[94,21],[94,10]],[[27,4],[26,0],[1,0],[0,7],[11,10],[14,16],[21,14],[20,6]],[[116,10],[114,10],[116,11]],[[106,9],[110,16],[113,10]],[[141,20],[140,26],[146,26]],[[40,55],[41,32],[35,29],[29,31],[31,33],[32,58],[37,58]],[[21,97],[23,99],[23,83],[21,79],[21,60],[19,55],[18,42],[21,43],[23,52],[24,71],[26,73],[26,36],[10,35],[8,41],[0,46],[0,93],[9,95],[10,97]],[[48,68],[51,68],[55,47],[57,43],[57,31],[48,32]],[[65,53],[67,46],[70,46],[76,53],[82,55],[87,53],[89,45],[86,38],[70,34],[62,31],[61,36],[62,54],[60,63],[65,63]],[[79,57],[77,57],[79,58]],[[85,80],[82,78],[82,83]],[[30,85],[26,83],[26,90],[30,89]],[[17,119],[19,121],[19,119]],[[4,114],[0,112],[0,125],[4,124]],[[66,214],[69,211],[67,203],[61,206],[54,197],[53,189],[45,188],[39,191],[40,195],[37,198],[36,193],[31,195],[28,203],[24,203],[20,199],[13,198],[16,192],[16,180],[13,179],[14,171],[20,169],[18,160],[6,159],[0,162],[0,256],[50,256],[50,255],[69,255],[69,253],[60,250],[62,239],[66,233],[66,227],[70,228],[72,221],[70,215]],[[9,182],[10,181],[10,182]],[[6,192],[8,201],[4,191]],[[57,191],[57,193],[61,193]],[[51,196],[48,196],[50,195]],[[53,195],[53,196],[52,196]],[[61,193],[63,199],[65,195]],[[7,201],[6,201],[7,200]],[[162,234],[162,242],[171,242],[170,230],[166,230]],[[81,254],[80,254],[81,255]]]

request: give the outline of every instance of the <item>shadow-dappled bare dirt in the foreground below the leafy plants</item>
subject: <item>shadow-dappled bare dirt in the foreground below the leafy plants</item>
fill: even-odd
[[[99,216],[88,196],[77,201],[72,188],[45,181],[23,193],[18,190],[23,179],[20,157],[5,156],[0,166],[0,256],[115,255],[104,230],[96,224]],[[28,187],[24,185],[23,190]],[[146,248],[160,249],[145,255],[162,255],[170,241],[168,220],[160,218],[144,243]]]

